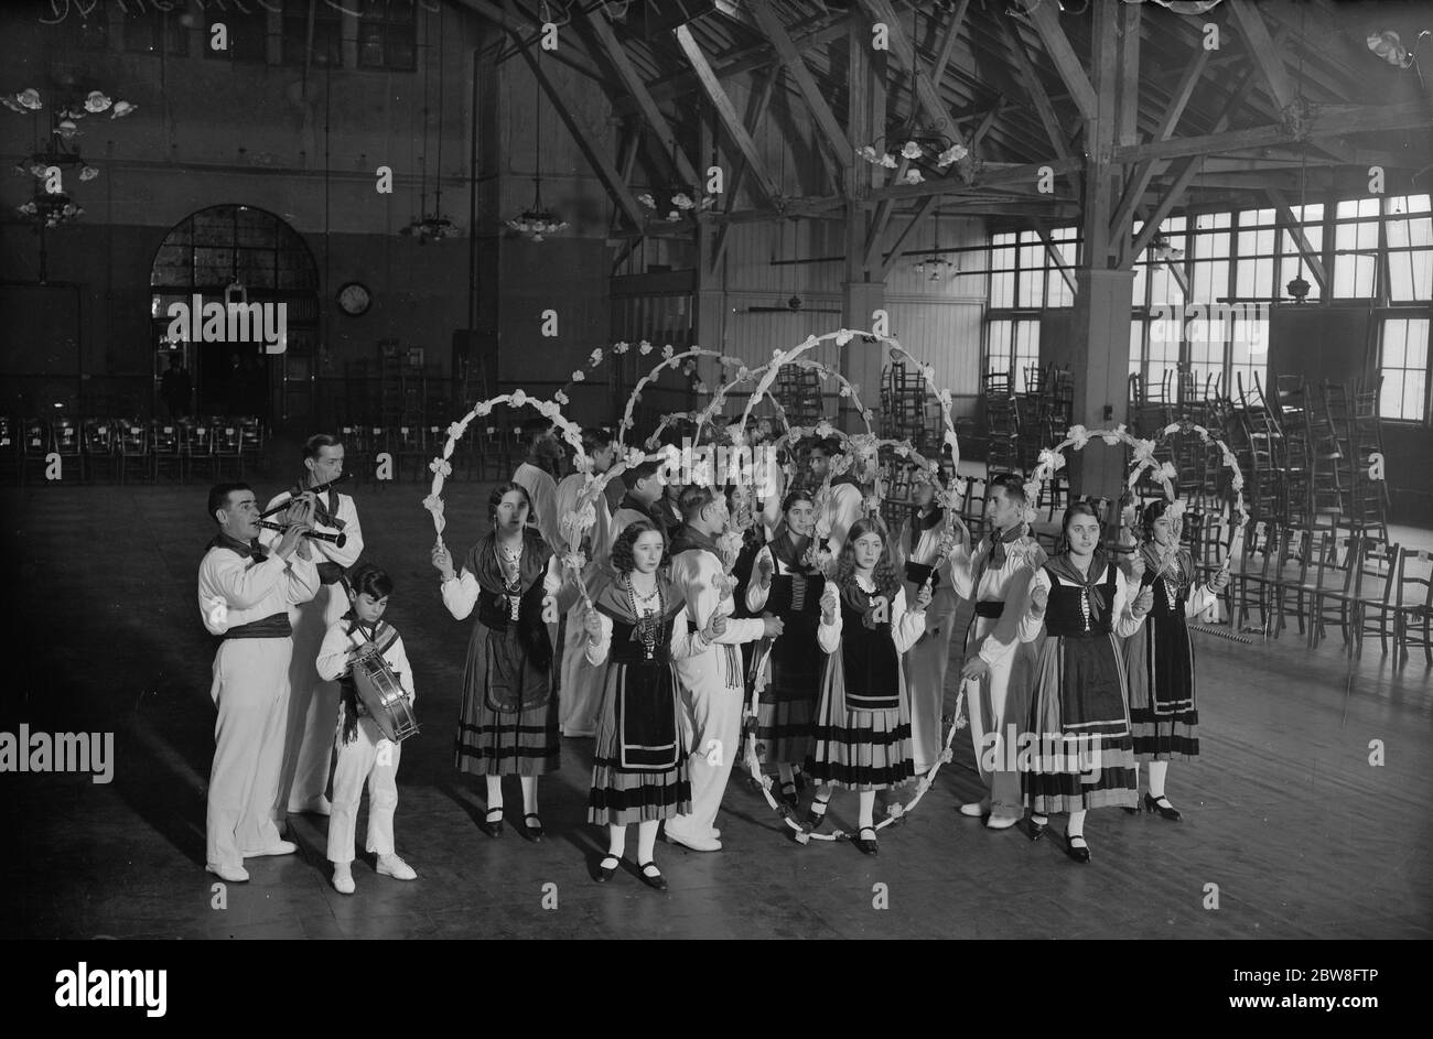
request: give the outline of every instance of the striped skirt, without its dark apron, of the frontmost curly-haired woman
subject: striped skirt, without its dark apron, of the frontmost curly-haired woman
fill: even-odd
[[[675,682],[676,675],[672,674],[671,665],[666,666],[671,681]],[[686,774],[686,754],[682,747],[678,747],[676,765],[672,768],[636,771],[622,767],[616,696],[623,688],[625,672],[625,664],[608,666],[608,681],[598,708],[592,793],[588,795],[588,821],[596,825],[651,823],[684,815],[692,810],[692,782]],[[666,688],[666,695],[674,695],[672,688],[675,686]]]

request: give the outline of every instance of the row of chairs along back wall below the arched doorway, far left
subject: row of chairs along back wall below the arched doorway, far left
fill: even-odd
[[[202,418],[113,418],[76,420],[0,417],[0,467],[13,470],[24,486],[27,479],[46,479],[59,460],[62,479],[130,477],[158,482],[173,476],[186,483],[195,474],[214,480],[225,473],[244,477],[245,461],[264,450],[264,424],[254,416],[209,416]]]

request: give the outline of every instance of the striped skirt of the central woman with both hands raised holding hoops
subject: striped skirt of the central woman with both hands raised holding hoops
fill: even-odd
[[[820,784],[857,791],[909,782],[916,775],[916,762],[910,744],[910,702],[904,691],[896,709],[851,711],[845,707],[840,661],[840,652],[827,656],[805,771]]]

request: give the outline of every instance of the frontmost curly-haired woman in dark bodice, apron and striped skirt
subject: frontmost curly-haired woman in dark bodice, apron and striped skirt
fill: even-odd
[[[599,880],[610,880],[626,851],[628,824],[638,824],[638,870],[648,887],[666,890],[652,861],[661,821],[691,811],[675,661],[705,652],[725,629],[715,615],[688,633],[685,602],[658,573],[662,532],[635,520],[612,546],[613,578],[593,590],[586,659],[606,665],[598,709],[588,821],[608,827]]]

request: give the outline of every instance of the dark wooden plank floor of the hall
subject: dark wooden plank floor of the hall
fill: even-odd
[[[277,483],[261,483],[264,499]],[[252,883],[214,909],[203,873],[214,641],[195,573],[214,527],[205,487],[40,486],[0,493],[9,681],[0,729],[113,731],[109,785],[0,774],[0,934],[6,937],[1433,937],[1433,691],[1422,656],[1401,669],[1377,643],[1350,664],[1338,636],[1241,645],[1198,638],[1202,757],[1175,762],[1184,821],[1091,813],[1093,861],[956,815],[974,797],[969,739],[880,856],[801,847],[742,782],[718,821],[725,850],[659,844],[671,891],[632,874],[590,878],[603,834],[583,821],[590,741],[563,744],[542,782],[549,838],[512,823],[484,837],[481,785],[451,764],[467,625],[427,562],[426,492],[357,490],[367,557],[397,590],[390,619],[418,681],[424,732],[404,745],[398,851],[416,883],[357,863],[337,894],[327,820],[302,817],[299,854],[251,860]],[[480,533],[473,484],[450,486],[447,539]],[[1370,765],[1381,741],[1384,764]],[[520,804],[516,787],[509,805]],[[834,815],[854,821],[854,797]],[[629,851],[635,853],[635,833]],[[556,909],[545,909],[545,886]],[[884,884],[887,909],[876,907]],[[1217,886],[1218,907],[1207,909]],[[549,904],[550,904],[549,897]]]

